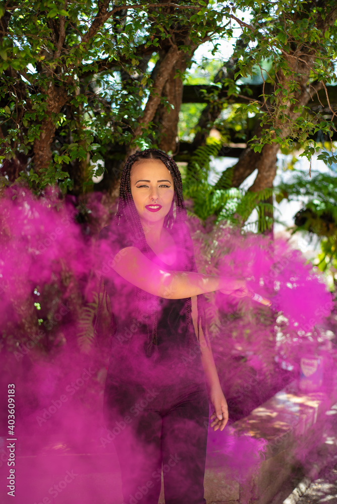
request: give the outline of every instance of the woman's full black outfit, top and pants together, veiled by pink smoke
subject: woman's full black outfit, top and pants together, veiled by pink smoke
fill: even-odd
[[[103,228],[99,237],[107,239],[110,259],[130,246],[115,226]],[[152,250],[146,255],[165,270],[186,270],[183,258],[169,266]],[[187,299],[150,296],[158,313],[158,345],[148,357],[145,315],[133,317],[136,289],[113,272],[111,263],[109,267],[107,261],[106,266],[109,278],[104,276],[104,284],[116,332],[104,390],[104,417],[121,465],[124,504],[158,503],[162,464],[166,504],[206,504],[203,479],[209,405],[199,343],[186,316]],[[140,314],[146,312],[145,306],[140,308]]]

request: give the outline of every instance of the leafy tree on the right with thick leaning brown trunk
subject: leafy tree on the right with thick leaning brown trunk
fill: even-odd
[[[240,202],[240,222],[242,225],[255,207],[260,230],[264,231],[272,221],[272,186],[279,149],[302,149],[301,155],[311,159],[327,139],[332,150],[335,112],[326,85],[335,78],[337,9],[333,2],[241,2],[236,7],[248,9],[251,20],[249,24],[238,20],[242,34],[232,57],[213,79],[216,87],[207,89],[208,103],[195,128],[192,148],[207,143],[214,125],[228,143],[233,142],[239,137],[239,125],[239,142],[244,140],[247,147],[236,165],[224,171],[211,194],[215,196],[216,190],[228,190],[229,186],[239,187],[257,169]],[[242,77],[248,76],[260,76],[260,86],[245,85],[247,79]],[[238,101],[246,104],[238,107]],[[227,114],[221,117],[224,109]],[[229,109],[235,111],[230,120]],[[318,133],[320,142],[315,139]],[[331,164],[336,158],[322,152],[318,159]]]

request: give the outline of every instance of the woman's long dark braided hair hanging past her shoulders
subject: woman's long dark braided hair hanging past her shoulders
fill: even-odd
[[[129,156],[127,159],[122,176],[121,176],[121,185],[120,185],[120,196],[119,196],[119,203],[118,203],[118,210],[116,213],[116,216],[111,223],[113,226],[122,226],[123,229],[128,229],[130,237],[132,237],[132,241],[137,243],[138,248],[143,254],[147,254],[150,252],[150,247],[146,242],[145,239],[145,234],[143,227],[141,225],[140,219],[138,212],[136,210],[133,197],[131,194],[131,186],[130,186],[130,172],[132,165],[139,160],[143,159],[158,159],[160,160],[170,171],[171,176],[174,181],[174,192],[175,192],[175,197],[171,205],[171,209],[168,212],[168,214],[164,218],[163,226],[167,229],[174,230],[175,236],[178,237],[177,242],[180,244],[182,247],[183,254],[185,254],[186,257],[186,271],[191,271],[191,272],[197,272],[196,268],[196,263],[195,263],[195,258],[194,258],[194,250],[193,250],[193,243],[191,239],[190,232],[188,230],[187,224],[186,224],[186,218],[187,218],[187,212],[186,212],[186,207],[184,203],[184,198],[183,198],[183,184],[182,184],[182,179],[180,175],[179,168],[175,161],[168,156],[166,153],[163,151],[160,151],[158,149],[146,149],[144,151],[137,151],[135,154],[132,154]],[[176,203],[176,216],[174,215],[174,203]],[[137,309],[137,315],[139,314],[139,306],[142,304],[144,307],[146,306],[152,306],[152,309],[150,309],[151,313],[151,324],[149,324],[149,321],[146,320],[146,327],[147,327],[147,335],[148,339],[145,345],[145,351],[148,356],[152,355],[153,351],[157,348],[157,310],[155,303],[151,303],[153,301],[153,295],[147,293],[143,289],[137,289],[137,299],[136,299],[136,305],[138,307]],[[103,299],[102,299],[103,300]],[[204,311],[203,311],[203,306],[202,306],[202,300],[203,300],[203,295],[199,294],[197,296],[197,306],[198,306],[198,319],[197,319],[197,328],[198,328],[198,334],[197,334],[197,339],[198,342],[199,340],[199,323],[201,324],[201,328],[203,330],[206,343],[208,346],[208,341],[206,337],[206,324],[205,324],[205,317],[204,317]],[[143,301],[143,303],[142,303]],[[97,309],[97,314],[100,311],[100,293],[98,295],[98,309]],[[137,318],[136,315],[136,318]],[[113,317],[113,315],[111,314]],[[192,301],[191,298],[187,298],[186,300],[186,316],[187,316],[187,322],[188,324],[192,323]],[[96,318],[97,320],[97,318]],[[110,324],[111,327],[111,324]],[[193,346],[195,344],[195,341],[191,335],[191,332],[189,332],[189,346]]]

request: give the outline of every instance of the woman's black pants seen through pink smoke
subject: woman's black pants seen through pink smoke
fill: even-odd
[[[104,417],[122,472],[123,504],[158,504],[161,466],[165,504],[206,504],[206,384],[133,390],[111,383]]]

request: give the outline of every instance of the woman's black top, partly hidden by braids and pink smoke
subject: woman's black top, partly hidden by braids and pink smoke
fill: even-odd
[[[174,238],[174,234],[171,234]],[[119,250],[136,245],[128,241],[119,226],[104,227],[99,233],[99,239],[106,240],[108,244],[109,253],[107,260],[103,261],[102,272],[116,323],[107,379],[133,388],[154,385],[170,388],[175,385],[204,383],[200,345],[193,323],[186,314],[188,298],[164,299],[146,293],[151,306],[157,310],[157,351],[148,357],[145,351],[148,341],[146,318],[148,317],[151,335],[152,310],[140,304],[138,320],[135,319],[137,288],[111,267],[111,261]],[[186,271],[187,265],[182,257],[177,258],[175,264],[167,265],[152,249],[145,255],[166,271]],[[118,256],[115,260],[118,260]],[[189,333],[193,340],[192,346],[188,344]]]

